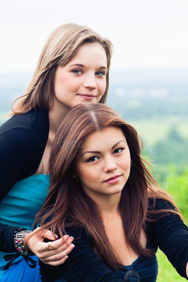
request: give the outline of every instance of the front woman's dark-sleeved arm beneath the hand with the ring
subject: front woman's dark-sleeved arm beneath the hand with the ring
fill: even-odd
[[[66,232],[74,237],[75,247],[65,263],[60,266],[53,267],[39,262],[42,281],[59,281],[58,279],[62,278],[72,282],[123,281],[98,258],[83,229],[69,227],[66,228]]]

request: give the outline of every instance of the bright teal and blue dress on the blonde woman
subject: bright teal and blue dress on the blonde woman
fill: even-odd
[[[36,174],[17,181],[0,203],[0,222],[10,226],[20,226],[32,230],[32,221],[44,203],[48,186],[48,175]],[[3,271],[3,268],[7,264],[3,259],[3,256],[6,254],[9,253],[0,252],[0,281],[41,281],[39,267],[30,269],[21,256],[13,262],[8,270]],[[38,260],[36,256],[33,256],[32,259],[35,261]],[[26,275],[25,278],[24,275]],[[14,279],[12,280],[11,277],[13,276]]]

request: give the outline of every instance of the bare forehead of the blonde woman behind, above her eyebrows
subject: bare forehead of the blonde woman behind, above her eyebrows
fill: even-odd
[[[107,55],[101,44],[97,42],[82,44],[68,64],[86,65],[87,62],[107,66]]]

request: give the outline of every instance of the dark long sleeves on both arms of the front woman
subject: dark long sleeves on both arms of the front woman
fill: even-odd
[[[152,206],[152,201],[149,201],[149,206]],[[154,208],[149,207],[149,209],[174,209],[174,207],[167,201],[156,199]],[[151,218],[154,218],[154,216]],[[154,244],[155,250],[159,246],[177,272],[187,279],[188,228],[180,217],[176,214],[166,213],[156,222],[148,221],[146,223],[147,236],[149,241]],[[66,227],[65,229],[67,234],[76,238],[74,240],[75,248],[71,251],[65,263],[60,266],[46,265],[40,261],[42,281],[61,281],[58,279],[65,279],[70,282],[122,281],[97,257],[90,243],[91,238],[88,238],[84,228]],[[141,281],[144,280],[141,279]]]

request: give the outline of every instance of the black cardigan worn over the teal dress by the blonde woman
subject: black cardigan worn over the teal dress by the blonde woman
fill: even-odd
[[[14,115],[0,127],[0,201],[18,180],[33,175],[38,169],[48,135],[49,118],[45,110],[33,109]],[[15,253],[15,230],[19,227],[0,223],[0,251]]]

